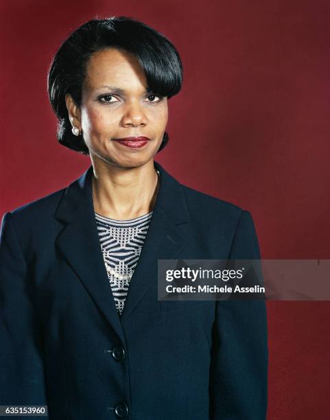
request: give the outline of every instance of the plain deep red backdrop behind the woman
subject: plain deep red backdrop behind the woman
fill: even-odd
[[[329,0],[1,1],[0,216],[90,165],[56,141],[47,69],[71,30],[120,14],[184,65],[156,161],[251,211],[263,258],[329,259]],[[329,418],[329,308],[268,302],[269,420]]]

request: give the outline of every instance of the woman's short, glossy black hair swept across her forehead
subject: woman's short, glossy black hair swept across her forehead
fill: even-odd
[[[182,62],[174,45],[160,32],[128,16],[92,19],[78,27],[56,52],[48,72],[48,95],[58,117],[57,137],[60,144],[89,155],[82,135],[71,132],[65,103],[69,93],[80,106],[82,84],[89,58],[96,51],[115,47],[128,51],[139,60],[148,88],[155,95],[176,95],[182,84]],[[158,149],[169,140],[167,132]]]

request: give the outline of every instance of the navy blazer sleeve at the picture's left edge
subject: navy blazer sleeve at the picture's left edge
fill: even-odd
[[[0,233],[0,405],[47,405],[43,328],[10,212]],[[39,418],[39,417],[38,417]],[[43,417],[45,418],[45,417]]]

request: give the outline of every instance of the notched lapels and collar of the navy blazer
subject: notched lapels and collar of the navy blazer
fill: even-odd
[[[145,293],[157,282],[158,258],[174,259],[187,240],[185,230],[178,228],[189,223],[182,185],[156,161],[154,167],[161,174],[160,186],[121,318],[115,307],[95,223],[92,165],[65,189],[55,213],[55,218],[65,223],[56,238],[56,246],[121,338],[121,323],[128,319]]]

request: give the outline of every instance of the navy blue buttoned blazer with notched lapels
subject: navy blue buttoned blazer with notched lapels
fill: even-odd
[[[158,259],[259,259],[251,215],[154,166],[161,184],[121,318],[92,166],[3,216],[0,405],[47,405],[51,420],[266,418],[265,302],[157,297]]]

